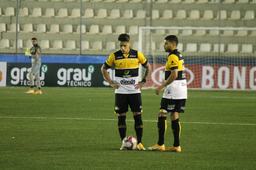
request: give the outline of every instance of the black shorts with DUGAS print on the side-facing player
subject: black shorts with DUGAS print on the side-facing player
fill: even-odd
[[[162,98],[159,111],[161,111],[162,113],[169,113],[169,112],[184,113],[185,103],[186,103],[185,98],[184,99]]]

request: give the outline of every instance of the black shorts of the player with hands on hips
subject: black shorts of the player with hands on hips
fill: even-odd
[[[126,113],[128,105],[133,112],[142,112],[141,94],[119,94],[115,96],[115,113]]]

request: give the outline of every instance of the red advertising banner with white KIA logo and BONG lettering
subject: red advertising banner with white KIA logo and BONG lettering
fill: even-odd
[[[145,87],[158,87],[165,79],[165,64],[151,64]],[[188,88],[256,90],[256,66],[186,64]]]

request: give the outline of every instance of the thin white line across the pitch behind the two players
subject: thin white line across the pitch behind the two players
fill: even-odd
[[[118,121],[116,119],[96,119],[96,118],[61,118],[61,117],[0,117],[0,118],[45,118],[45,119],[78,119],[78,120],[106,120]],[[134,121],[134,120],[127,120]],[[158,122],[158,121],[145,121],[144,122]],[[231,125],[256,125],[256,124],[236,124],[236,123],[203,123],[203,122],[180,122],[180,123],[199,123],[199,124],[231,124]]]

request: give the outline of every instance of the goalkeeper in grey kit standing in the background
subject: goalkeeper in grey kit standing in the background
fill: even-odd
[[[25,55],[28,56],[28,58],[31,59],[32,62],[32,67],[31,70],[29,72],[29,79],[30,79],[30,90],[28,90],[26,93],[30,94],[42,94],[41,91],[41,82],[39,79],[39,72],[40,72],[40,68],[41,68],[41,47],[37,44],[37,39],[36,38],[32,38],[31,39],[33,47],[31,48],[27,48],[27,51],[25,53]],[[33,75],[36,78],[37,81],[37,87],[38,87],[38,91],[34,92],[33,86],[34,86],[34,79],[33,79]]]

